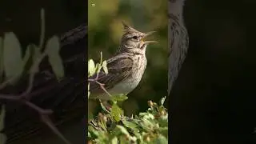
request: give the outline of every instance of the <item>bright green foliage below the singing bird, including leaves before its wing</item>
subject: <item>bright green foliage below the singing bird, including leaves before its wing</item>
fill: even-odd
[[[107,69],[104,62],[102,62],[102,54],[101,62],[96,65],[90,59],[88,61],[88,76],[97,74],[100,69]],[[107,70],[104,71],[107,74]],[[89,80],[97,81],[97,78]],[[90,83],[88,83],[88,94],[90,94],[89,85]],[[102,89],[104,89],[103,86]],[[99,113],[96,118],[88,122],[87,136],[89,143],[168,143],[168,113],[163,106],[166,98],[162,98],[159,105],[149,101],[149,108],[146,112],[130,118],[126,117],[123,114],[123,110],[118,106],[118,102],[123,102],[127,99],[126,95],[110,96],[111,106],[104,105],[100,100],[102,113]]]

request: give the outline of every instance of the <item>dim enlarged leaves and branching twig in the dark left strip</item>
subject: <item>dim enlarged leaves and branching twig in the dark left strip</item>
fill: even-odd
[[[45,18],[44,10],[41,10],[41,37],[38,45],[30,44],[26,46],[26,52],[22,58],[22,47],[18,38],[13,32],[7,32],[4,37],[0,37],[0,90],[4,89],[8,85],[14,85],[15,82],[22,76],[22,74],[30,74],[29,82],[26,90],[20,95],[1,95],[0,98],[14,100],[24,103],[26,106],[38,111],[41,114],[42,122],[45,122],[55,134],[58,134],[65,143],[70,143],[62,136],[56,127],[52,125],[48,114],[51,114],[51,110],[44,110],[33,103],[31,103],[27,96],[30,94],[33,88],[34,75],[38,73],[38,66],[42,62],[43,58],[48,56],[50,66],[54,71],[56,78],[62,78],[64,76],[64,68],[62,65],[62,58],[59,55],[60,42],[57,36],[46,41],[46,48],[44,49],[44,36],[45,36]],[[4,127],[5,107],[2,106],[2,112],[0,113],[0,132]],[[0,144],[6,142],[6,136],[0,133]]]

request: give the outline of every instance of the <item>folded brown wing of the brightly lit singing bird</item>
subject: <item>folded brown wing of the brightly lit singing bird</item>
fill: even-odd
[[[133,66],[133,59],[128,54],[119,54],[107,61],[108,74],[105,74],[103,70],[98,74],[98,82],[104,84],[106,90],[110,90],[118,82],[122,82],[128,78],[131,74]],[[97,77],[94,74],[90,79]],[[96,82],[90,82],[90,92],[102,91],[101,87]]]

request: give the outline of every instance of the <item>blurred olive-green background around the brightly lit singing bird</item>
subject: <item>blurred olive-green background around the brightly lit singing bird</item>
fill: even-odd
[[[88,4],[89,58],[110,58],[118,50],[123,34],[122,21],[136,30],[157,31],[150,39],[158,41],[147,46],[148,64],[138,87],[123,103],[127,115],[147,109],[147,101],[167,94],[167,1],[154,0],[90,0]]]

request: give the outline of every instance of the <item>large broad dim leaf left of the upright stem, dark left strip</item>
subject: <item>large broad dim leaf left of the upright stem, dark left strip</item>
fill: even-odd
[[[4,34],[3,65],[7,79],[18,78],[22,74],[22,48],[13,32]]]

